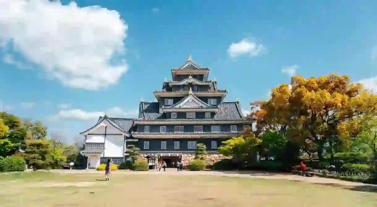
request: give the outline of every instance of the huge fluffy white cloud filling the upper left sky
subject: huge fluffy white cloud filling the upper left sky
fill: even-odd
[[[69,87],[97,90],[116,84],[128,68],[127,28],[117,11],[100,6],[0,1],[0,47]]]

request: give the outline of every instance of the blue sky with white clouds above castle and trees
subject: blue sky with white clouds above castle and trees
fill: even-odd
[[[140,100],[189,55],[225,100],[330,72],[377,89],[376,1],[12,0],[0,2],[0,110],[75,140]]]

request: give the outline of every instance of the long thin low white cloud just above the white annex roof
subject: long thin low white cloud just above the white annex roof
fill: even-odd
[[[81,109],[61,109],[50,120],[92,120],[100,116],[133,118],[139,114],[139,110],[124,111],[120,107],[109,108],[106,111],[84,111]]]

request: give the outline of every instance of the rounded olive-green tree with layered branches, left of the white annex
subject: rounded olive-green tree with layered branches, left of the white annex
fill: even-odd
[[[52,146],[51,142],[46,139],[33,139],[29,137],[25,143],[25,160],[33,166],[33,170],[37,168],[46,168],[51,165]]]

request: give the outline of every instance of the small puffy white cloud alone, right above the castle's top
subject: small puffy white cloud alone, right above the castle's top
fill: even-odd
[[[248,39],[243,39],[238,43],[232,43],[227,49],[228,55],[235,58],[241,55],[250,55],[251,57],[261,55],[265,52],[265,46]]]

